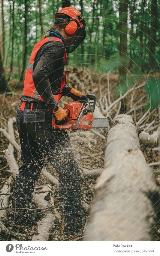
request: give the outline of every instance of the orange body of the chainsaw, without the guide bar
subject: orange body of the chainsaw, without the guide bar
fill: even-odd
[[[56,124],[56,120],[53,118],[52,120],[52,127],[53,129],[62,129],[62,130],[77,130],[77,129],[92,129],[92,122],[93,122],[93,113],[86,111],[86,114],[82,116],[80,120],[80,124],[77,127],[78,117],[80,112],[83,108],[82,103],[79,101],[74,101],[67,103],[64,109],[67,112],[67,120],[65,123],[58,125]]]

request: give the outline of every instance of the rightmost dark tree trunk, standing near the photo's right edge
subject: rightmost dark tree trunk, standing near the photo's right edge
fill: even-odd
[[[149,65],[153,67],[155,62],[155,46],[156,46],[156,31],[157,31],[157,0],[152,0],[151,4],[151,28],[149,36]]]

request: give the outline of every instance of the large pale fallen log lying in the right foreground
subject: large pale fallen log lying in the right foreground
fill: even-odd
[[[129,115],[113,119],[104,171],[97,179],[84,241],[150,241],[158,222],[159,194]]]

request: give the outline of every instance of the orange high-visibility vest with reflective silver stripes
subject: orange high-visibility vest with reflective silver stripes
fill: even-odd
[[[30,96],[32,98],[35,98],[35,99],[41,100],[41,101],[44,101],[44,100],[38,94],[38,91],[35,88],[35,84],[34,84],[34,81],[32,78],[33,65],[34,65],[35,56],[36,56],[38,50],[44,43],[46,43],[48,41],[59,41],[59,42],[63,43],[60,38],[52,37],[52,36],[43,37],[38,43],[36,43],[32,50],[31,56],[29,58],[29,63],[27,65],[26,74],[25,74],[25,78],[24,78],[23,95]],[[63,59],[64,59],[64,62],[66,62],[66,50],[65,50]],[[65,80],[66,80],[66,73],[63,72],[63,77],[61,79],[61,88],[59,90],[59,94],[53,95],[56,102],[58,102],[60,100],[60,98],[62,97],[61,92],[62,92],[63,87],[65,86]]]

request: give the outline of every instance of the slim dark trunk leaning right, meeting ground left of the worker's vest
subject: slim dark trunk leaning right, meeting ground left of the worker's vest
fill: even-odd
[[[23,81],[24,72],[26,70],[26,58],[27,58],[27,12],[28,12],[28,1],[25,0],[25,14],[24,14],[24,53],[23,53],[23,68],[20,77],[20,81]]]

